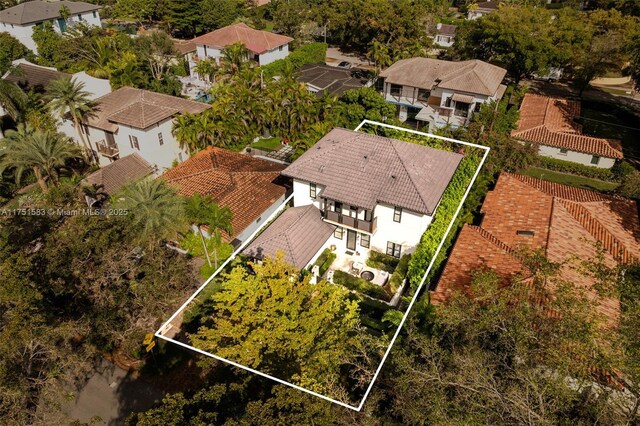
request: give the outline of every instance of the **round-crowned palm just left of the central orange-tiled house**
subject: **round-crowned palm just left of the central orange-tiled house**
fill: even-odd
[[[143,179],[112,197],[114,206],[128,212],[134,241],[150,246],[175,237],[184,226],[184,199],[162,179]]]

